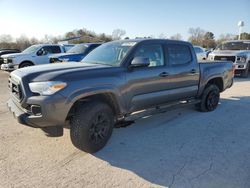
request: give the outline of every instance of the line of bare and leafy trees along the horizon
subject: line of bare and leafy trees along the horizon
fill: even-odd
[[[188,30],[190,41],[193,45],[202,46],[204,48],[214,48],[216,45],[227,40],[236,40],[238,39],[237,35],[232,34],[222,34],[215,39],[214,34],[211,31],[205,31],[201,28],[190,28]],[[0,35],[0,49],[20,49],[24,50],[25,48],[39,43],[58,43],[65,40],[69,40],[70,43],[86,43],[86,42],[108,42],[112,40],[119,40],[126,35],[126,31],[123,29],[115,29],[112,32],[112,35],[107,35],[105,33],[96,34],[93,31],[89,31],[85,28],[76,29],[70,32],[65,33],[63,36],[51,36],[45,35],[43,39],[37,38],[28,38],[25,35],[14,39],[9,34]],[[143,38],[155,38],[154,36],[148,36]],[[157,38],[169,38],[175,40],[182,40],[181,34],[177,33],[173,36],[167,37],[165,34],[160,34]],[[125,39],[129,39],[125,37]],[[241,39],[250,39],[250,33],[242,33]]]

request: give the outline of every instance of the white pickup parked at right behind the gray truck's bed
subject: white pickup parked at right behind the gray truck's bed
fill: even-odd
[[[232,61],[235,74],[248,77],[250,71],[250,40],[226,41],[209,54],[209,60]]]

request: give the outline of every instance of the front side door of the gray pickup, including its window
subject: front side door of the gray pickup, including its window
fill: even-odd
[[[148,67],[137,67],[127,71],[128,109],[142,110],[164,101],[168,85],[164,49],[161,44],[142,44],[137,47],[133,58],[148,58]]]

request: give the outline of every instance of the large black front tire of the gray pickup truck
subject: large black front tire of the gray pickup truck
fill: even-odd
[[[114,113],[102,102],[88,102],[76,108],[70,121],[70,137],[78,149],[95,153],[108,142],[114,127]]]

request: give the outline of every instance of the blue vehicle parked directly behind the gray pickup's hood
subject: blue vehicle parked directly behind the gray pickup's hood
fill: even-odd
[[[76,44],[66,53],[53,54],[50,56],[50,63],[67,62],[67,61],[81,61],[89,52],[101,43],[83,43]]]

